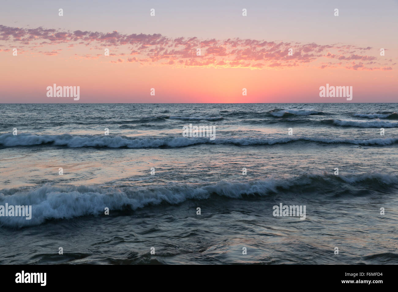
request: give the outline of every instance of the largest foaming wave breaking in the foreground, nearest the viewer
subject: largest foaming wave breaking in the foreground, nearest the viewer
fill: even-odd
[[[350,176],[334,174],[305,174],[291,179],[253,180],[197,186],[172,184],[150,187],[49,186],[0,191],[0,205],[31,205],[31,219],[0,217],[0,226],[23,227],[42,224],[47,220],[71,219],[87,215],[134,211],[148,205],[180,204],[189,199],[203,200],[211,196],[244,199],[273,194],[295,196],[297,193],[319,196],[361,195],[363,189],[379,191],[396,189],[398,178],[387,174],[368,173]],[[319,190],[322,189],[322,194]],[[362,190],[362,191],[360,191]]]

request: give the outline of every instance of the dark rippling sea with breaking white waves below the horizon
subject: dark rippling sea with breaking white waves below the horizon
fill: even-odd
[[[398,104],[0,110],[2,264],[398,263]]]

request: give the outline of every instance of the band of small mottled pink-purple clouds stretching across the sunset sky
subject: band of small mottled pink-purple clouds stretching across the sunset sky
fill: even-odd
[[[0,25],[0,40],[14,47],[25,46],[33,50],[40,46],[45,49],[39,54],[57,56],[52,45],[66,48],[86,46],[90,50],[111,47],[112,53],[106,58],[113,63],[125,59],[117,56],[134,55],[127,62],[140,62],[146,65],[166,66],[212,66],[250,69],[291,68],[313,66],[314,68],[345,68],[348,70],[392,70],[392,60],[381,64],[378,50],[370,46],[360,47],[351,44],[316,44],[276,42],[256,39],[199,39],[197,37],[170,38],[161,34],[122,34],[118,31],[60,31],[57,29],[18,28]],[[201,54],[197,55],[197,49]],[[291,49],[291,50],[289,50]],[[2,52],[4,52],[3,50]],[[292,54],[289,52],[293,51]],[[367,52],[364,55],[365,51]],[[101,58],[97,54],[95,58]],[[86,57],[87,55],[82,55]],[[94,57],[90,57],[93,58]],[[104,56],[105,58],[105,56]],[[352,63],[353,61],[358,63]],[[365,64],[364,64],[365,62]],[[373,67],[369,67],[372,65]],[[375,69],[379,68],[379,69]],[[384,69],[383,69],[384,68]]]

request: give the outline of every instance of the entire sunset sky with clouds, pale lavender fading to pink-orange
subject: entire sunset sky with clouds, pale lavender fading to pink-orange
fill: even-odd
[[[1,103],[397,102],[398,0],[0,5]]]

